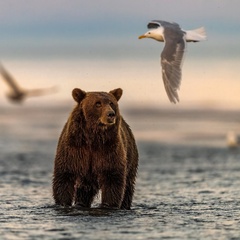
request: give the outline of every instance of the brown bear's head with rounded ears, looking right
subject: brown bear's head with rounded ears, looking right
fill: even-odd
[[[90,127],[108,127],[118,123],[118,100],[122,96],[122,89],[117,88],[107,92],[85,92],[79,88],[72,91],[73,99],[78,103]]]

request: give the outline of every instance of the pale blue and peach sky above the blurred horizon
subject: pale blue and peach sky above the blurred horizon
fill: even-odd
[[[236,108],[239,9],[238,0],[1,1],[0,61],[23,87],[60,85],[55,101],[71,100],[74,87],[122,87],[125,104],[172,107],[162,83],[163,44],[138,36],[152,19],[175,21],[186,30],[204,26],[207,41],[188,44],[177,107]],[[0,89],[6,102],[3,81]]]

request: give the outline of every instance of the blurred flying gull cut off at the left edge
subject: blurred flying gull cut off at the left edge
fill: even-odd
[[[53,93],[56,91],[56,87],[43,88],[43,89],[23,89],[19,87],[15,79],[10,75],[10,73],[0,64],[0,73],[3,79],[11,88],[10,92],[7,94],[9,100],[15,103],[21,103],[26,97],[35,97]]]

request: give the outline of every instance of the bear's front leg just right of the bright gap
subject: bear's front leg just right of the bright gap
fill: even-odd
[[[126,177],[123,172],[111,171],[104,174],[101,181],[103,208],[118,209],[124,194]]]

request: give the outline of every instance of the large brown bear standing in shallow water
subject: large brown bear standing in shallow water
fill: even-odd
[[[130,209],[138,167],[133,134],[119,113],[122,89],[72,92],[73,109],[59,138],[53,176],[56,204]]]

